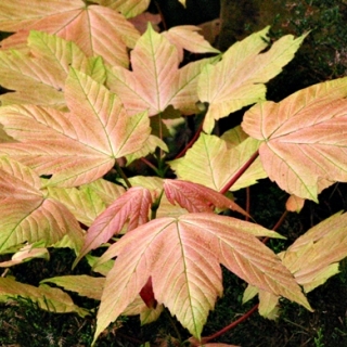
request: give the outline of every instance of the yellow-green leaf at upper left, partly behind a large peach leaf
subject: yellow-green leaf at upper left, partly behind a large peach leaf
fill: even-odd
[[[72,41],[33,30],[28,47],[30,54],[0,52],[0,82],[15,90],[0,97],[2,105],[30,103],[63,108],[63,90],[70,67],[101,83],[105,80],[101,59],[88,59]]]

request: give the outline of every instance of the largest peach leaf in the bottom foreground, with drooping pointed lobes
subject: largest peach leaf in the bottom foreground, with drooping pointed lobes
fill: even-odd
[[[230,217],[189,214],[154,219],[127,233],[100,259],[102,264],[117,256],[106,277],[94,338],[150,277],[158,304],[200,338],[208,311],[222,294],[219,262],[248,283],[310,308],[280,258],[254,236],[262,232],[278,235]]]

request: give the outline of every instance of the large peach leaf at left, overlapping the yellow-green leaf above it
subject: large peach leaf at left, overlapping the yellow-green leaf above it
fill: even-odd
[[[137,152],[150,136],[145,113],[128,116],[105,87],[72,69],[65,87],[69,113],[13,105],[0,108],[0,123],[20,143],[2,143],[0,152],[39,175],[47,184],[73,187],[101,178],[115,158]]]

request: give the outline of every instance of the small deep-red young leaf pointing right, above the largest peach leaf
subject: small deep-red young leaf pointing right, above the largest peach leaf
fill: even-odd
[[[244,216],[249,215],[236,203],[202,184],[180,181],[165,180],[164,191],[168,201],[175,205],[175,202],[190,213],[213,213],[217,208],[230,208]]]

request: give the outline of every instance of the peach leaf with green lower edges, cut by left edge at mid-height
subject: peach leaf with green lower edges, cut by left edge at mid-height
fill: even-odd
[[[62,203],[44,197],[36,172],[8,157],[0,158],[0,253],[24,242],[51,246],[64,236],[80,249],[77,220]]]

